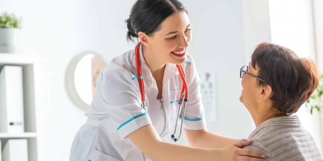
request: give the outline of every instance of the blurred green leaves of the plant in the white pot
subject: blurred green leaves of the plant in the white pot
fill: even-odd
[[[16,17],[15,14],[8,14],[3,12],[0,15],[0,28],[21,28],[21,18]]]

